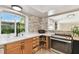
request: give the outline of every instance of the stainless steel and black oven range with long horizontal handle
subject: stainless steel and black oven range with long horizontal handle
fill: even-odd
[[[51,36],[51,48],[63,53],[72,53],[72,36],[55,34]]]

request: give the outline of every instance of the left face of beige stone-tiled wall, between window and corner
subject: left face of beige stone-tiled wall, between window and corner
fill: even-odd
[[[40,29],[40,20],[42,18],[36,16],[29,16],[28,20],[28,31],[37,32]]]

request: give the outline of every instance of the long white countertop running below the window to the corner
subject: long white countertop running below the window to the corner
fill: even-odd
[[[45,33],[45,34],[27,33],[27,34],[24,34],[23,36],[19,36],[19,37],[7,37],[7,38],[2,37],[2,38],[0,38],[0,45],[32,38],[32,37],[36,37],[36,36],[40,36],[40,35],[50,36],[51,34],[50,33]]]

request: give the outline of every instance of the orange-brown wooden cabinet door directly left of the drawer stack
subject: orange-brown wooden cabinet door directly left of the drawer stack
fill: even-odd
[[[23,54],[32,54],[32,39],[25,40]]]

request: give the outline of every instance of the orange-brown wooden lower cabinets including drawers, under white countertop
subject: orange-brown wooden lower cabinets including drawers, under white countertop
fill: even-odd
[[[48,37],[46,38],[48,48]],[[33,37],[5,45],[5,54],[32,54],[39,50],[39,37]]]

